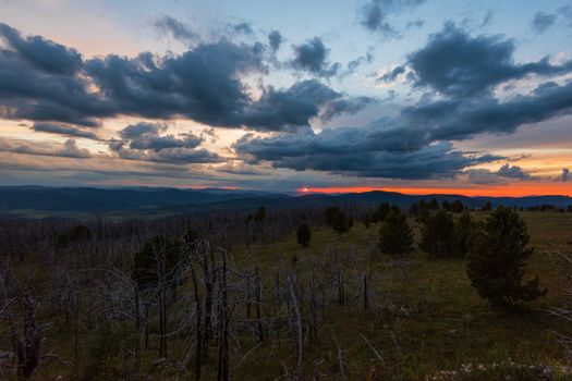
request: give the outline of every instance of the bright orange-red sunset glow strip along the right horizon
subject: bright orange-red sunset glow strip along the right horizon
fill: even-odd
[[[466,187],[392,187],[392,186],[349,186],[349,187],[301,187],[301,194],[322,193],[366,193],[374,190],[398,192],[406,195],[462,195],[462,196],[492,196],[492,197],[523,197],[523,196],[569,196],[572,197],[572,184],[567,183],[528,183],[519,185],[474,185]]]

